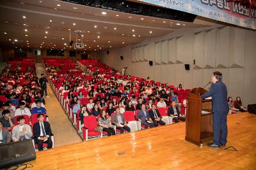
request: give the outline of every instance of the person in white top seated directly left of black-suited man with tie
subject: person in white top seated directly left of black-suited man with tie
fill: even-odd
[[[24,139],[31,139],[33,136],[30,125],[25,124],[24,117],[18,117],[17,122],[19,125],[16,125],[12,129],[12,141],[22,141]]]

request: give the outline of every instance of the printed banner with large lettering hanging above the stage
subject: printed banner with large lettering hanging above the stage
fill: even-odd
[[[205,18],[256,29],[256,9],[228,0],[138,0]]]

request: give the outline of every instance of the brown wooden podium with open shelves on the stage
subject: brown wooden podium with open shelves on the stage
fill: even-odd
[[[207,90],[199,87],[192,89],[187,96],[187,141],[200,145],[203,141],[212,139],[212,100],[201,99],[201,95]],[[210,113],[202,114],[202,110]]]

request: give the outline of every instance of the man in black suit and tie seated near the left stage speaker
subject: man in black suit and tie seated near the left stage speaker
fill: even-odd
[[[47,143],[47,149],[52,148],[52,130],[49,122],[44,122],[44,115],[39,113],[38,122],[33,125],[33,136],[38,144],[38,150],[43,150],[43,143]]]

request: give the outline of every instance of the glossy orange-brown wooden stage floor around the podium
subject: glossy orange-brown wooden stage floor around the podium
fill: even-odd
[[[185,141],[182,122],[37,152],[29,163],[32,169],[256,169],[255,122],[250,113],[228,115],[226,148],[237,151]]]

